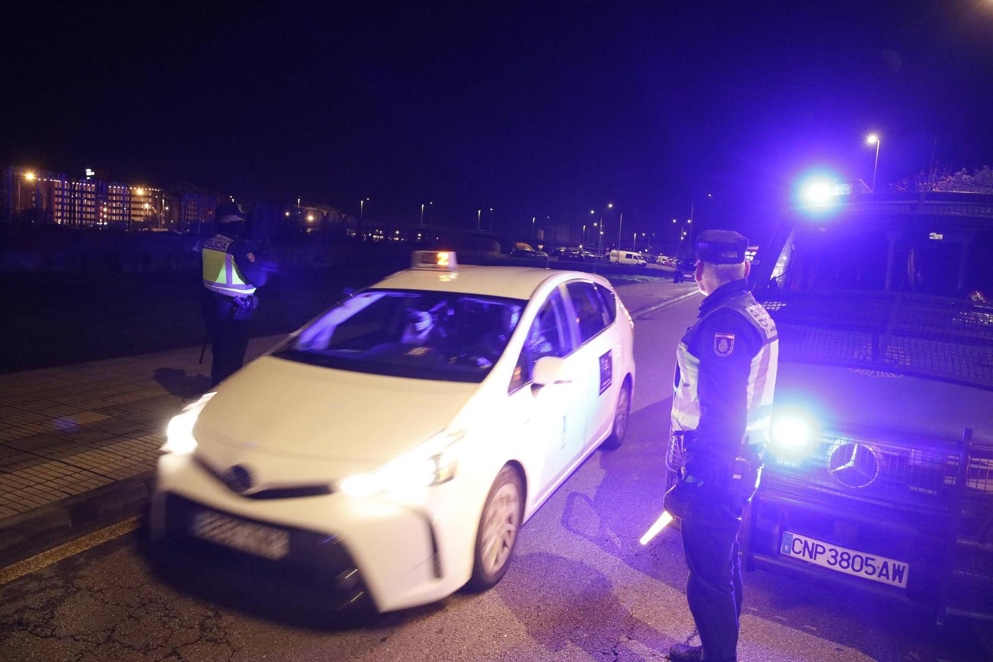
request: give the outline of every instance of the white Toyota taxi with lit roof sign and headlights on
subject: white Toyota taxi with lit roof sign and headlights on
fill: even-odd
[[[417,251],[170,421],[153,539],[380,611],[488,588],[520,526],[624,440],[633,331],[600,276]]]

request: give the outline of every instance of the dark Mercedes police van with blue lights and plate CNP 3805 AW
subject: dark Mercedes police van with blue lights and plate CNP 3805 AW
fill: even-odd
[[[993,196],[931,192],[803,205],[760,249],[780,365],[748,567],[993,618],[991,254]]]

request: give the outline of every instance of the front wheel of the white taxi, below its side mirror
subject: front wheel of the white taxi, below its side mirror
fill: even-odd
[[[480,516],[470,589],[486,590],[506,574],[524,515],[523,495],[520,474],[509,465],[500,469]]]

